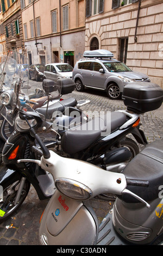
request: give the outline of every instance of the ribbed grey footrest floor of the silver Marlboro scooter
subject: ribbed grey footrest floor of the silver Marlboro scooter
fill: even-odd
[[[112,214],[108,214],[99,225],[97,245],[127,245],[114,229]]]

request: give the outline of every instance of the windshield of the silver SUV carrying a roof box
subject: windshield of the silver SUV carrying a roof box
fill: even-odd
[[[132,71],[122,62],[105,62],[103,63],[109,72],[127,72]]]

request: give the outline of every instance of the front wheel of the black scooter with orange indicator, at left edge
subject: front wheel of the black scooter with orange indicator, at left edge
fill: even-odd
[[[10,184],[5,187],[0,187],[0,224],[8,220],[8,218],[12,216],[18,208],[20,208],[27,197],[30,189],[30,182],[28,180],[24,182],[20,199],[16,205],[14,204],[20,182],[21,178],[14,182],[11,180]]]

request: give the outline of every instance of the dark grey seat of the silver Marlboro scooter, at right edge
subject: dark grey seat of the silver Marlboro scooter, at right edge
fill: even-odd
[[[159,198],[160,185],[163,185],[163,139],[148,144],[131,160],[123,174],[127,179],[147,181],[148,186],[129,185],[127,189],[143,198],[146,202]],[[127,203],[136,203],[134,197],[123,194],[121,197]]]

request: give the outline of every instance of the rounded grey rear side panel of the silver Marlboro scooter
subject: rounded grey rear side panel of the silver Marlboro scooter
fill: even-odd
[[[163,225],[163,199],[149,202],[148,209],[142,203],[124,203],[117,199],[114,205],[114,224],[117,232],[132,243],[151,243]]]

